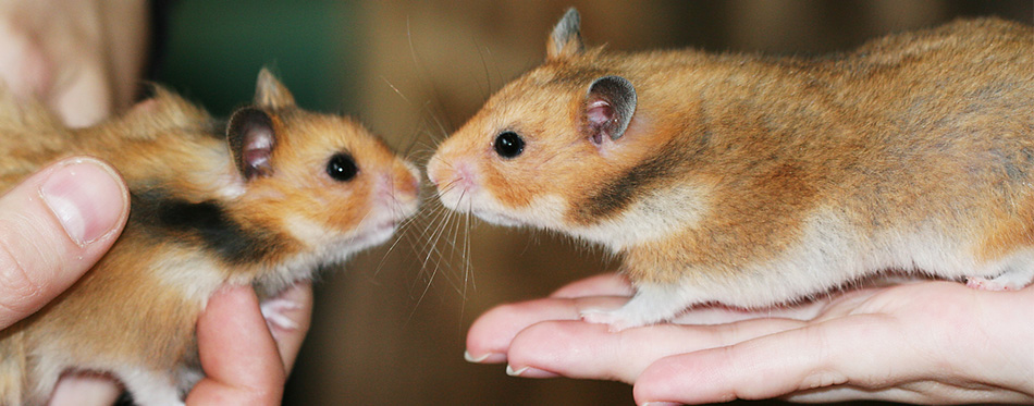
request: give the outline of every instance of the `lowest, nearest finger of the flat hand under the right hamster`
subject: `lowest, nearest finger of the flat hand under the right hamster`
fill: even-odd
[[[858,316],[663,358],[639,376],[636,402],[760,399],[872,382],[890,376],[881,359],[921,368],[922,360],[911,357],[914,350],[901,350],[898,330],[883,317]]]

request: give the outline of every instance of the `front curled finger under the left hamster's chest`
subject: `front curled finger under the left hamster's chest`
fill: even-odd
[[[202,379],[187,396],[199,405],[275,405],[283,361],[250,286],[217,292],[197,322]]]

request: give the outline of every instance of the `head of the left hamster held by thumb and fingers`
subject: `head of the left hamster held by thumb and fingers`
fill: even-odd
[[[417,209],[416,169],[360,124],[298,109],[268,71],[227,140],[246,222],[288,234],[298,254],[343,260],[383,243]]]

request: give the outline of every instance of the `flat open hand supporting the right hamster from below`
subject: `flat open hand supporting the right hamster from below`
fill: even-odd
[[[619,333],[579,320],[631,294],[610,274],[500,306],[471,325],[467,358],[527,378],[632,383],[639,404],[1034,401],[1034,286],[910,283],[759,311],[704,307]]]

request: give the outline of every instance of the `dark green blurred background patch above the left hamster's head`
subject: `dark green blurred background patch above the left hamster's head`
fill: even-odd
[[[303,107],[356,107],[361,38],[356,4],[332,0],[181,0],[167,9],[156,79],[226,115],[247,101],[262,66],[278,73]]]

